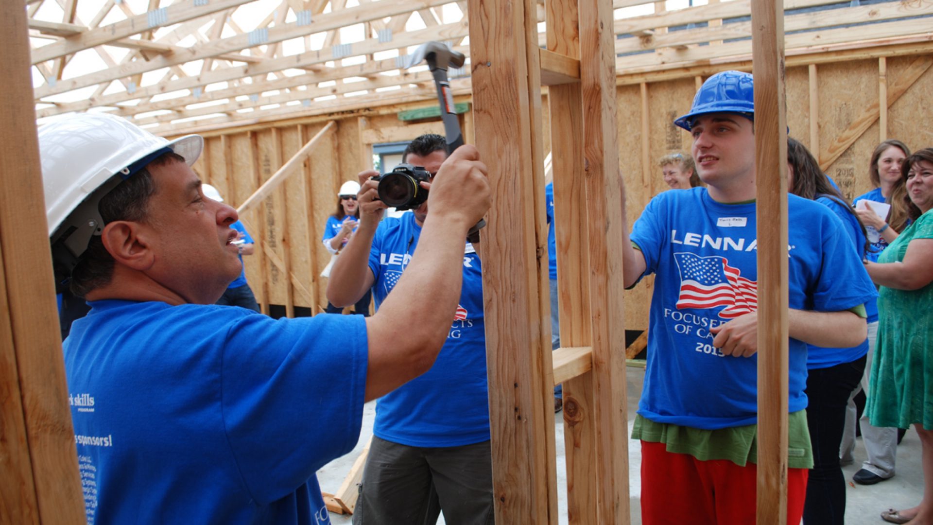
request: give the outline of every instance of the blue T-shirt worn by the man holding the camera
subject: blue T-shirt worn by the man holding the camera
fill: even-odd
[[[378,309],[418,246],[411,212],[379,224],[369,251]],[[410,447],[459,447],[489,439],[486,339],[480,258],[465,241],[463,287],[451,331],[427,373],[379,399],[373,433]],[[422,297],[419,301],[430,301]]]

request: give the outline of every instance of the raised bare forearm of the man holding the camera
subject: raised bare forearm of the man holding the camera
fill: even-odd
[[[369,288],[369,248],[375,226],[361,226],[341,251],[327,279],[327,301],[335,306],[353,305]]]

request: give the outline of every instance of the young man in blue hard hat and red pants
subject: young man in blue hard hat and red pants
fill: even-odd
[[[642,441],[642,521],[753,523],[758,315],[752,77],[706,80],[675,124],[693,136],[707,188],[663,192],[625,239],[626,286],[656,274],[648,367],[633,438]],[[783,176],[783,174],[782,174]],[[842,224],[788,196],[787,523],[801,521],[813,465],[805,413],[806,344],[865,339],[874,296]],[[767,319],[762,319],[767,322]]]

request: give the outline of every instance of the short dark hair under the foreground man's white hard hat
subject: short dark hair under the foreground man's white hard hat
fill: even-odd
[[[100,204],[97,205],[104,225],[114,220],[145,221],[149,199],[156,192],[156,182],[149,173],[148,167],[173,162],[184,163],[185,159],[177,153],[163,153],[104,195]],[[91,237],[88,249],[81,255],[75,269],[71,272],[71,282],[68,287],[72,294],[84,297],[88,292],[110,284],[114,263],[114,258],[104,248],[104,241],[101,237],[99,235]]]

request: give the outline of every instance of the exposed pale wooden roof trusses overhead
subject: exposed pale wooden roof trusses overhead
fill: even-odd
[[[541,21],[544,2],[537,2]],[[663,2],[615,0],[620,76],[747,60],[751,0],[708,2],[670,8]],[[400,57],[428,40],[447,41],[468,53],[466,2],[456,0],[23,4],[33,41],[38,117],[107,110],[163,134],[430,99],[430,76],[424,68],[402,70]],[[788,55],[834,46],[933,42],[927,18],[933,16],[931,2],[851,6],[840,0],[786,0],[785,8]],[[862,27],[853,30],[854,24]],[[573,57],[550,56],[547,62],[563,68],[554,78],[573,77]],[[452,74],[459,78],[458,92],[470,90],[469,68],[467,63]]]

